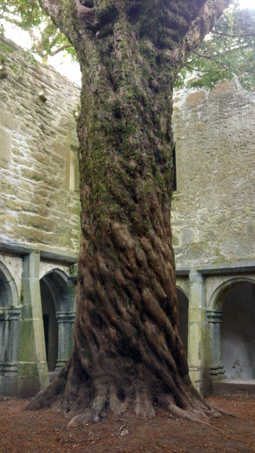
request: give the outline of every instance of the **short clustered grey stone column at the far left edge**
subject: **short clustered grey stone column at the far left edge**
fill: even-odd
[[[18,319],[21,309],[0,308],[0,396],[17,396],[18,392]]]

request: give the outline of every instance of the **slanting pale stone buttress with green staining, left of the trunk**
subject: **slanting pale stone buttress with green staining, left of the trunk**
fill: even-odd
[[[49,383],[40,299],[40,253],[23,258],[23,306],[18,347],[18,396],[35,395]]]

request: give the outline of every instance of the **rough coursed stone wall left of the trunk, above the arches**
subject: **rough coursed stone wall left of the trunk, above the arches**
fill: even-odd
[[[79,90],[0,40],[0,241],[77,254]]]

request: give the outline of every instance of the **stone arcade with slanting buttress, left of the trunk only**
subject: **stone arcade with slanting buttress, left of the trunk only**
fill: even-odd
[[[74,260],[57,259],[0,256],[0,396],[32,396],[72,353]]]

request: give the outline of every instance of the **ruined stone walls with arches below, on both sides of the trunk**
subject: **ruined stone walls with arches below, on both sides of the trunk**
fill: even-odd
[[[31,396],[72,352],[79,91],[3,38],[0,57],[0,395]],[[181,336],[191,379],[204,393],[254,341],[237,326],[237,356],[224,350],[233,340],[232,307],[249,307],[242,323],[246,317],[254,331],[254,103],[254,93],[229,82],[179,91],[174,103]],[[244,374],[251,371],[253,362]]]

